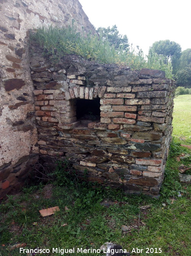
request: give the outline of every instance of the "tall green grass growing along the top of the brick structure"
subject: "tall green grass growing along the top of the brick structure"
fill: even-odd
[[[139,48],[138,52],[133,48],[130,51],[122,47],[116,49],[108,40],[102,40],[98,35],[81,35],[74,25],[68,28],[40,27],[31,33],[30,43],[39,45],[47,55],[52,55],[53,64],[57,64],[65,54],[76,54],[99,63],[126,65],[134,70],[159,69],[165,71],[167,78],[173,78],[172,65],[165,64],[162,55],[149,53],[146,60]]]

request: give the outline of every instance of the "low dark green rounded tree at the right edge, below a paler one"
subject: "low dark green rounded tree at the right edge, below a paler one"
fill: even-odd
[[[176,84],[191,88],[191,64],[177,72]]]

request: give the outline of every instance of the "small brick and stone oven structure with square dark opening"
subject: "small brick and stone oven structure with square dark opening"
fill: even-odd
[[[51,58],[51,56],[50,56]],[[129,193],[159,194],[172,134],[174,86],[141,72],[65,56],[57,67],[31,57],[40,159],[68,159],[87,180]],[[100,99],[100,120],[76,120],[82,99]],[[77,105],[76,105],[77,104]]]

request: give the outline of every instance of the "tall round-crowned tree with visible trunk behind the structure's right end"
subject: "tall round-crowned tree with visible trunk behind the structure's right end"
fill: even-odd
[[[160,40],[156,41],[149,48],[159,55],[166,57],[166,62],[171,61],[173,66],[173,73],[176,74],[179,68],[179,60],[181,56],[181,46],[170,40]]]

